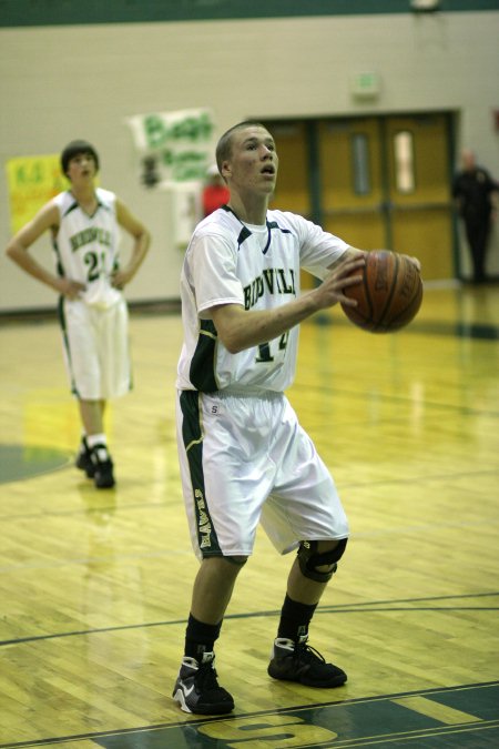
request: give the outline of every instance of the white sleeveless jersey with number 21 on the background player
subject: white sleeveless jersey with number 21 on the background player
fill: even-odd
[[[95,189],[98,208],[89,215],[70,192],[53,200],[59,209],[59,230],[53,235],[58,273],[85,285],[81,298],[90,306],[106,308],[122,294],[111,286],[111,273],[119,265],[116,196]]]

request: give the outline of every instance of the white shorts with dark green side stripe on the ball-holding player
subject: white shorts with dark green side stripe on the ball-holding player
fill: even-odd
[[[347,538],[333,478],[287,397],[177,397],[182,487],[196,556],[248,556],[259,522],[281,554]]]

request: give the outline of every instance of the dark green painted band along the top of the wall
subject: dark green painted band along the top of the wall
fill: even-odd
[[[499,10],[499,0],[440,0],[440,12]],[[410,0],[0,0],[0,27],[407,13]]]

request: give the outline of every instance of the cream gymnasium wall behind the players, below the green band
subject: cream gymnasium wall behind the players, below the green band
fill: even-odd
[[[150,256],[128,289],[128,298],[177,298],[182,251],[172,240],[174,205],[170,193],[141,185],[126,117],[210,107],[220,134],[246,117],[445,110],[456,114],[457,148],[473,148],[499,178],[499,132],[492,118],[492,110],[499,109],[498,31],[498,10],[3,24],[1,162],[59,152],[73,138],[94,143],[102,185],[115,190],[153,233]],[[375,100],[357,100],[350,92],[352,77],[365,70],[380,77]],[[9,236],[3,173],[2,246]],[[32,252],[52,262],[48,236]],[[491,255],[490,270],[498,274],[497,229]],[[0,253],[0,311],[54,304],[51,290]]]

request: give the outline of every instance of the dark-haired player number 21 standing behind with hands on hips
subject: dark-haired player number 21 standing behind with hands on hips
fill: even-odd
[[[77,466],[98,488],[114,486],[113,460],[104,434],[106,401],[131,389],[128,306],[122,289],[138,272],[150,244],[144,225],[109,190],[96,188],[99,156],[86,141],[72,141],[61,154],[71,188],[39,211],[9,242],[7,254],[27,273],[57,291],[64,360],[83,426]],[[120,267],[119,226],[133,237]],[[28,252],[50,231],[57,272]]]

